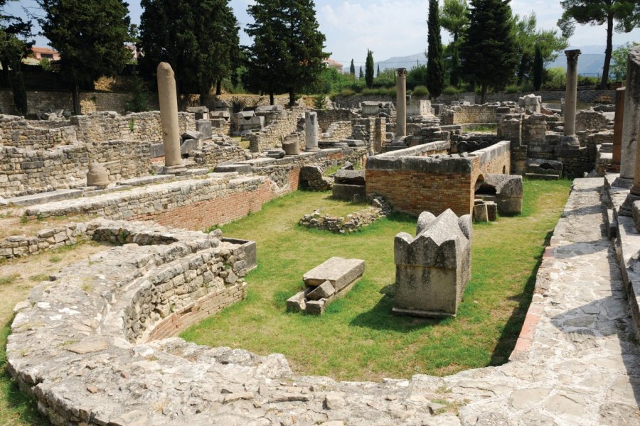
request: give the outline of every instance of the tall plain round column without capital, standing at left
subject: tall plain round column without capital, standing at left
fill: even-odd
[[[164,165],[167,173],[183,169],[180,153],[180,131],[178,129],[178,94],[176,78],[171,65],[158,65],[158,99],[160,104],[160,124],[164,143]]]

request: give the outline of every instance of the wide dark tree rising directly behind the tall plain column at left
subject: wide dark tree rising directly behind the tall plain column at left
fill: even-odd
[[[142,0],[139,46],[144,75],[169,62],[179,93],[199,93],[233,75],[239,52],[238,21],[228,0]],[[180,13],[176,14],[176,11]]]

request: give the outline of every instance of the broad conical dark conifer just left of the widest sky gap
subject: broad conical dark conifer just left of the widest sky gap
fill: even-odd
[[[296,102],[296,94],[317,81],[326,67],[323,51],[326,38],[318,29],[314,2],[311,0],[257,0],[247,12],[254,23],[247,26],[247,34],[254,44],[249,48],[249,72],[267,80],[252,79],[254,87],[273,94],[289,93],[289,105]]]

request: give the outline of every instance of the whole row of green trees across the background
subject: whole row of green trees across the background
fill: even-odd
[[[14,92],[18,110],[26,113],[26,92],[21,60],[31,43],[31,22],[4,13],[8,1],[0,0],[0,63]],[[220,94],[243,87],[252,92],[289,94],[294,104],[302,92],[324,93],[336,87],[356,87],[356,67],[348,75],[328,68],[323,61],[326,38],[319,31],[314,1],[256,0],[247,12],[253,23],[245,32],[252,45],[240,45],[240,26],[229,0],[142,0],[140,26],[130,23],[123,0],[37,0],[43,13],[34,20],[42,35],[61,56],[60,75],[73,93],[75,113],[80,112],[78,90],[102,76],[117,75],[132,53],[140,53],[138,72],[154,82],[158,62],[169,62],[176,72],[178,92],[201,94],[212,87]],[[537,28],[535,13],[513,15],[509,0],[429,1],[427,65],[410,70],[407,81],[430,97],[445,87],[462,84],[478,88],[482,102],[489,89],[507,84],[530,84],[537,90],[550,73],[545,65],[567,48],[576,23],[606,24],[607,49],[601,87],[609,78],[613,31],[628,32],[640,25],[636,0],[564,0],[558,21],[562,32]],[[452,41],[442,45],[441,29]],[[373,51],[367,50],[365,69],[358,76],[369,89],[395,83],[393,70],[374,70]],[[614,72],[617,70],[614,67]]]

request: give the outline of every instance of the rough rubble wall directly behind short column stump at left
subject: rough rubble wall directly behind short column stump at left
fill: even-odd
[[[0,146],[0,196],[84,186],[90,158],[105,165],[112,182],[146,175],[151,168],[148,143],[107,141],[36,151]]]

